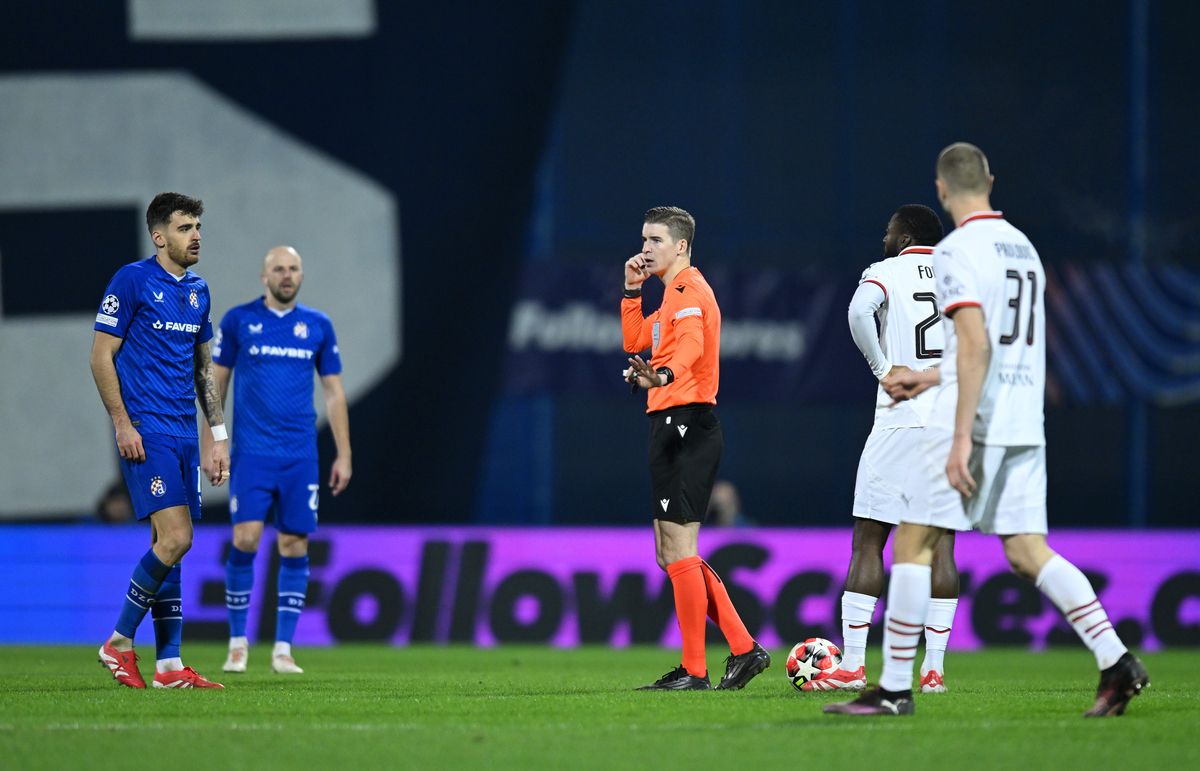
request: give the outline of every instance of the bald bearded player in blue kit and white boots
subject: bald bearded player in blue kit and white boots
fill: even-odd
[[[271,670],[301,673],[292,638],[308,588],[308,534],[317,530],[320,471],[313,372],[320,377],[337,458],[329,486],[338,495],[350,482],[350,426],[342,392],[342,359],[334,325],[320,311],[299,305],[300,255],[277,246],[263,261],[266,294],[221,319],[212,348],[222,399],[234,378],[233,478],[229,514],[233,546],[226,562],[229,609],[227,673],[246,671],[246,616],[254,584],[254,554],[263,521],[275,508],[278,531],[278,611]]]

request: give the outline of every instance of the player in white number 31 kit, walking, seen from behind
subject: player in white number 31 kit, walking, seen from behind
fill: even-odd
[[[1016,573],[1034,581],[1096,656],[1100,685],[1085,717],[1123,715],[1150,683],[1121,642],[1087,578],[1046,545],[1045,273],[1024,233],[991,210],[979,148],[937,159],[937,196],[958,229],[934,250],[946,330],[942,386],[905,485],[908,509],[894,564],[880,687],[830,704],[842,715],[912,715],[912,650],[930,598],[930,563],[946,530],[1000,536]]]

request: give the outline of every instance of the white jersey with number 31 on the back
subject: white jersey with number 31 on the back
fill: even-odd
[[[1033,244],[998,211],[979,211],[934,250],[937,301],[943,315],[973,305],[983,311],[991,343],[972,437],[1002,447],[1045,444],[1045,270]],[[954,429],[958,337],[946,323],[941,398],[930,425]]]

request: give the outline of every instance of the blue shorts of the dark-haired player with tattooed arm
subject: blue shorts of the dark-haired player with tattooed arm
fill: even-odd
[[[121,473],[125,474],[138,519],[174,506],[186,506],[192,519],[200,519],[200,448],[197,438],[143,434],[142,447],[146,453],[143,462],[121,459]]]

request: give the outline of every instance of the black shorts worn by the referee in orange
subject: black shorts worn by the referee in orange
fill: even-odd
[[[721,465],[721,422],[712,405],[649,413],[654,519],[702,522]]]

